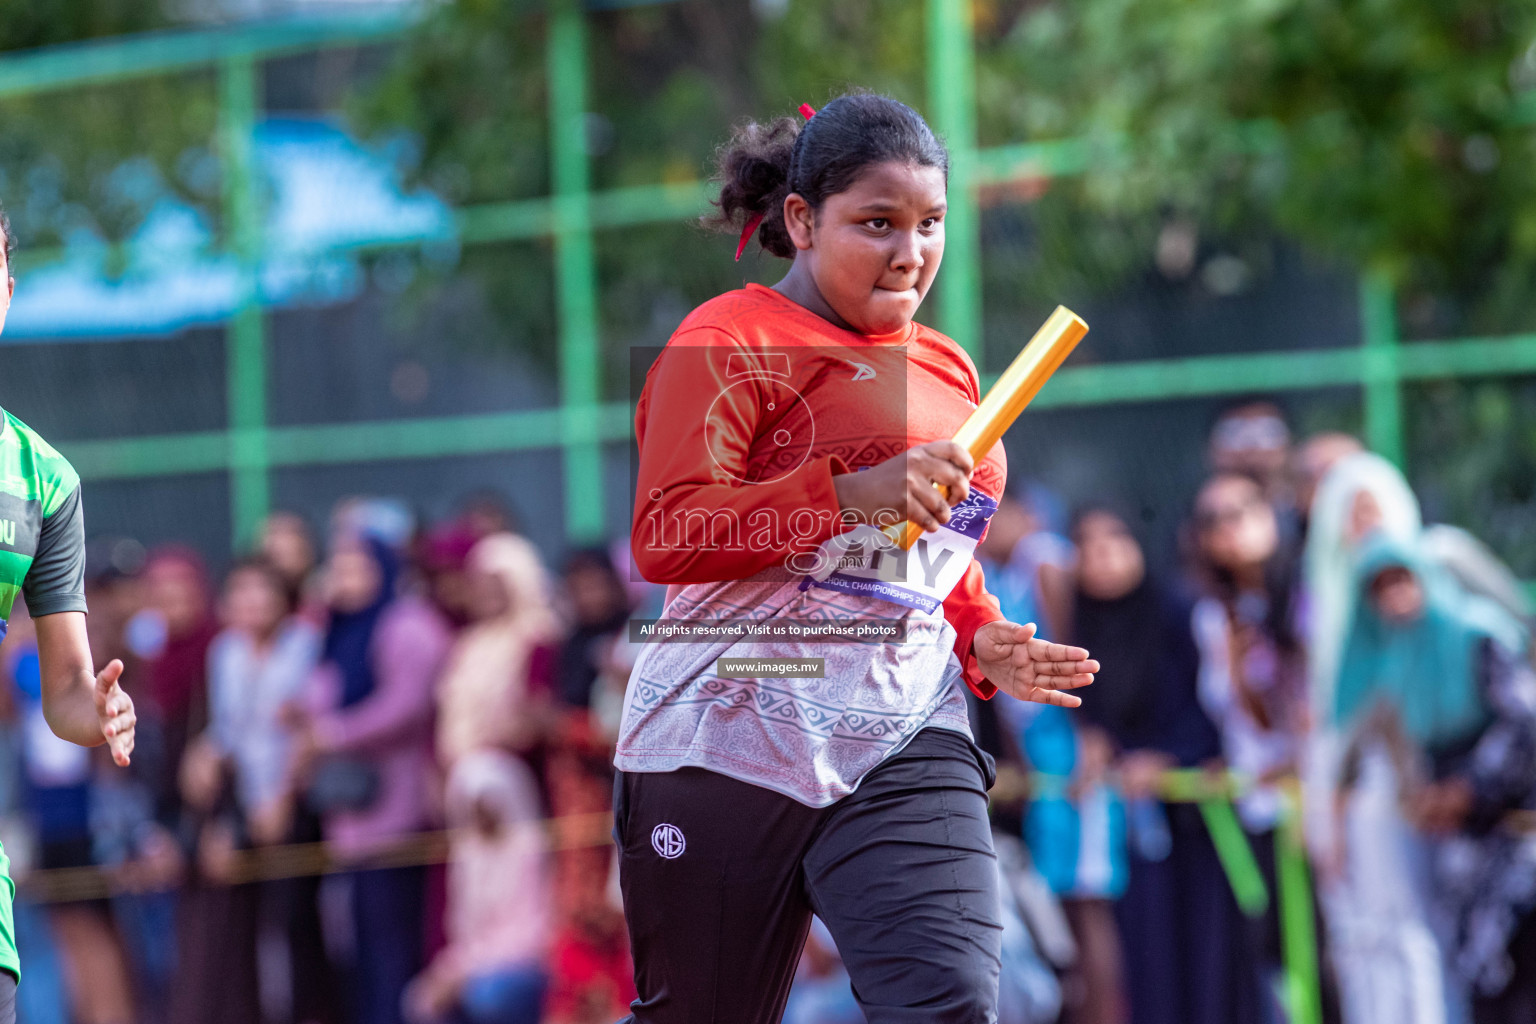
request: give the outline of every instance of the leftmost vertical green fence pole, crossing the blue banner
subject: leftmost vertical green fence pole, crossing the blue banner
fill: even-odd
[[[267,352],[261,315],[261,203],[257,195],[255,126],[260,69],[247,55],[220,64],[220,152],[224,158],[224,224],[240,267],[240,301],[226,332],[230,431],[230,545],[255,539],[270,507],[267,479]]]

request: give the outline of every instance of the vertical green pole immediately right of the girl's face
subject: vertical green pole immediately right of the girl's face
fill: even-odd
[[[938,324],[982,367],[982,235],[975,197],[975,32],[971,0],[928,0],[928,101],[949,144]]]

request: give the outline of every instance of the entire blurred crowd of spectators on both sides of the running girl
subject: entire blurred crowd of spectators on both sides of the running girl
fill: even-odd
[[[1009,619],[1104,666],[1077,711],[971,699],[1000,765],[1000,1024],[1267,1024],[1307,992],[1329,1024],[1536,1019],[1524,588],[1272,402],[1227,408],[1204,457],[1177,536],[1018,484],[980,548]],[[627,623],[664,605],[631,576],[625,539],[550,567],[495,496],[275,514],[218,582],[92,543],[132,768],[52,737],[23,616],[0,651],[23,1024],[621,1018],[611,757]],[[41,869],[108,895],[29,901],[71,877]],[[817,921],[785,1021],[862,1019]]]

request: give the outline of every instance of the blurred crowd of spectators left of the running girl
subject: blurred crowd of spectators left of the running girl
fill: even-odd
[[[493,496],[427,528],[346,500],[323,542],[275,514],[217,582],[186,548],[92,543],[92,649],[127,665],[138,745],[118,771],[49,732],[17,616],[0,778],[20,1019],[622,1016],[610,761],[625,626],[662,594],[613,554],[554,576]],[[587,827],[551,844],[550,817]],[[97,869],[111,895],[29,903],[29,875],[69,878],[38,869]]]

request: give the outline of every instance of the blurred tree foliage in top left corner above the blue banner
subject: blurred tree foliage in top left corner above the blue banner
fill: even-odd
[[[158,0],[0,0],[0,52],[166,26]],[[218,224],[210,75],[0,100],[0,201],[26,247],[126,241],[167,197]],[[115,259],[121,269],[121,259]]]

